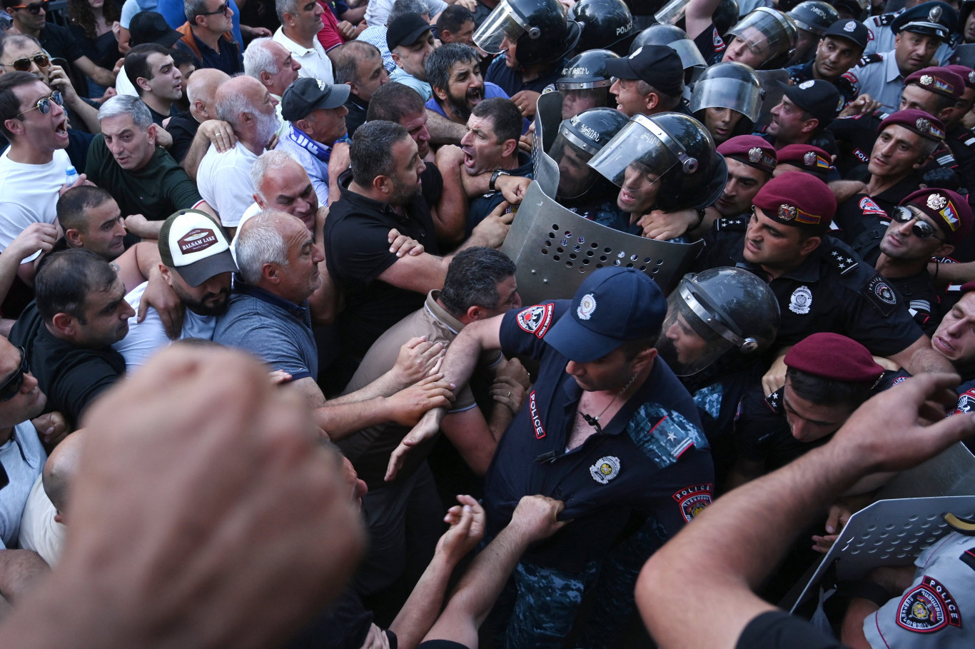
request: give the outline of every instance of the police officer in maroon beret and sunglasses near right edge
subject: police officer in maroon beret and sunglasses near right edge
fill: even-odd
[[[918,189],[891,210],[889,222],[872,220],[850,247],[890,281],[921,329],[933,334],[940,309],[927,264],[950,256],[971,232],[968,202],[949,189]]]

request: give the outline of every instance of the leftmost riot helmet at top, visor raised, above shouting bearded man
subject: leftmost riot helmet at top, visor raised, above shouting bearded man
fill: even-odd
[[[516,44],[521,65],[559,61],[575,49],[579,25],[565,19],[559,0],[501,0],[474,32],[487,54],[501,54],[505,40]]]

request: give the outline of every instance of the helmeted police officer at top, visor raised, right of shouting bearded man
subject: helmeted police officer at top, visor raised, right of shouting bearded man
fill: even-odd
[[[485,81],[500,86],[531,117],[538,95],[555,87],[579,34],[558,0],[501,0],[474,32],[474,43],[501,55],[487,67]]]

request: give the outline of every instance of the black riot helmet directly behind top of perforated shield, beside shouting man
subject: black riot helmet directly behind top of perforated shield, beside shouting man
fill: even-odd
[[[559,200],[578,198],[599,181],[606,181],[588,165],[629,120],[614,108],[590,108],[563,120],[548,154],[559,165]]]

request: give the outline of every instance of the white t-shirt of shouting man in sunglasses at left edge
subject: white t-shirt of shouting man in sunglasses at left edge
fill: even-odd
[[[63,149],[51,162],[26,165],[10,159],[10,147],[0,154],[0,251],[6,250],[30,223],[55,223],[58,191],[71,160]],[[81,173],[83,170],[78,170]],[[40,251],[23,263],[32,262]]]

